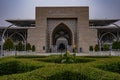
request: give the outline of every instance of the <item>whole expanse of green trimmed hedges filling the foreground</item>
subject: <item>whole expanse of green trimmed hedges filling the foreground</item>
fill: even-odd
[[[61,55],[0,59],[0,80],[120,80],[120,57],[77,56],[61,63]]]

